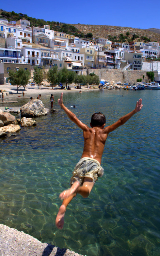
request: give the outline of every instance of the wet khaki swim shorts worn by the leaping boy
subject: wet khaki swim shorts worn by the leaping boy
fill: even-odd
[[[103,168],[97,160],[83,157],[75,166],[72,174],[73,176],[70,179],[70,184],[79,181],[82,185],[85,177],[91,178],[95,183],[98,180],[98,177],[103,176]]]

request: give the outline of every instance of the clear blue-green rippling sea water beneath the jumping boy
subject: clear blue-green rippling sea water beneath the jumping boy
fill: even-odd
[[[46,108],[49,98],[42,96]],[[54,98],[57,102],[59,95]],[[109,134],[101,163],[105,173],[89,198],[78,195],[68,205],[62,230],[55,227],[59,194],[69,187],[81,157],[82,131],[56,103],[58,111],[37,118],[36,127],[1,139],[0,223],[83,255],[159,256],[160,91],[70,93],[64,102],[87,125],[97,111],[109,125],[139,98],[142,111]]]

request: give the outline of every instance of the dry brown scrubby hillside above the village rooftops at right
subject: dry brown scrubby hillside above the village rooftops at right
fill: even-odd
[[[148,31],[145,29],[139,28],[130,28],[130,27],[117,27],[117,26],[108,26],[108,25],[85,25],[85,24],[72,24],[75,26],[79,31],[83,32],[84,34],[92,33],[94,38],[108,38],[108,35],[116,36],[118,38],[119,34],[123,33],[126,35],[126,32],[132,34],[147,37],[150,41],[158,41],[160,42],[160,34],[155,33],[153,31]]]

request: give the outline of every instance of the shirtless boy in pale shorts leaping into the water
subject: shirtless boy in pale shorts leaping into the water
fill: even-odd
[[[139,99],[133,111],[119,118],[117,122],[106,128],[104,128],[106,117],[100,112],[94,113],[91,118],[90,128],[83,124],[74,113],[66,108],[63,104],[63,93],[60,99],[58,99],[58,103],[70,120],[82,129],[84,137],[83,153],[73,171],[71,187],[60,194],[60,198],[63,199],[63,202],[55,219],[55,224],[59,229],[62,229],[64,225],[64,214],[70,201],[77,193],[84,198],[88,197],[98,177],[103,175],[103,168],[100,166],[100,163],[108,134],[117,127],[125,124],[132,115],[142,109],[143,105],[142,99]]]

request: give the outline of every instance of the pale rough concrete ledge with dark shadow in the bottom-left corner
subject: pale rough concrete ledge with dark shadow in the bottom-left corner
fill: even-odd
[[[0,224],[0,256],[83,256]]]

